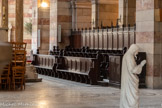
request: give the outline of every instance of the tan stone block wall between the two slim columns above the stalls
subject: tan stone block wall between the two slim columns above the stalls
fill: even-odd
[[[118,19],[118,4],[99,4],[99,26],[111,26],[111,22],[116,25]]]

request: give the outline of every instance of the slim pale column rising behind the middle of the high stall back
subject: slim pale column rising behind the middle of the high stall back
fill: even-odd
[[[98,27],[98,0],[92,0],[92,28]]]

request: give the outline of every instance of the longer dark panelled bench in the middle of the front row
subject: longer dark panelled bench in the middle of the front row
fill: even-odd
[[[77,82],[97,84],[98,60],[83,57],[60,57],[56,72],[59,78]]]

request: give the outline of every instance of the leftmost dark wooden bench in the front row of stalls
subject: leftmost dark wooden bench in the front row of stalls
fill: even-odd
[[[54,55],[42,55],[34,54],[33,65],[37,70],[37,73],[55,76],[56,56]]]

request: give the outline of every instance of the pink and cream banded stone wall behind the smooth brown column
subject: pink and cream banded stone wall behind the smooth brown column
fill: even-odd
[[[24,24],[30,22],[32,19],[32,1],[33,0],[24,0]],[[8,0],[8,22],[12,25],[11,31],[11,41],[16,41],[15,36],[15,25],[16,25],[16,0]],[[25,27],[25,26],[24,26]],[[31,34],[23,30],[23,41],[27,43],[27,55],[29,55],[31,50]]]

